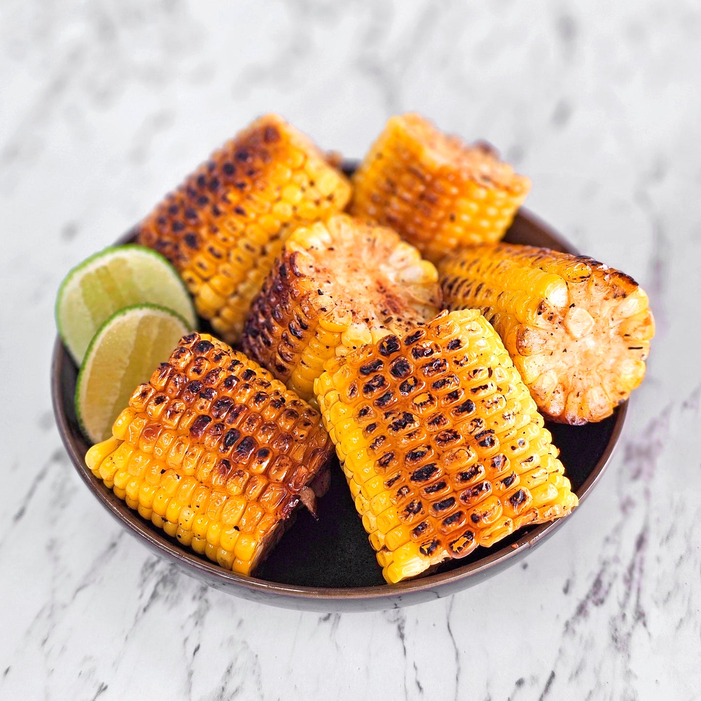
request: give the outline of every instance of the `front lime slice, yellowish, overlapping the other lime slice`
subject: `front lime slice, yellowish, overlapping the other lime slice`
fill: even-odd
[[[90,341],[76,383],[76,414],[93,443],[109,438],[132,392],[148,382],[192,329],[181,316],[155,304],[121,309]]]

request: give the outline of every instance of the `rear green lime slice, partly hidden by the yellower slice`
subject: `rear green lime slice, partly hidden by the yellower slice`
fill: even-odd
[[[106,248],[66,275],[56,299],[56,325],[78,365],[97,329],[119,309],[133,304],[172,309],[195,327],[192,300],[173,266],[143,246]]]

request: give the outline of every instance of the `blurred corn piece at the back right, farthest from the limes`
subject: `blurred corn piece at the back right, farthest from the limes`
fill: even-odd
[[[428,260],[498,241],[531,188],[486,144],[418,114],[390,118],[353,176],[351,214],[391,226]]]

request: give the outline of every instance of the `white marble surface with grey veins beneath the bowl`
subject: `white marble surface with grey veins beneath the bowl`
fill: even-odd
[[[693,0],[0,4],[0,698],[701,698],[701,6]],[[253,116],[360,156],[420,109],[646,287],[622,446],[522,566],[387,613],[266,608],[123,533],[48,394],[62,275]]]

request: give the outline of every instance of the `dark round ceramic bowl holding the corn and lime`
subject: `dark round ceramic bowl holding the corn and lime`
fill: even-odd
[[[505,240],[576,252],[543,222],[520,210]],[[76,421],[74,393],[77,369],[60,339],[56,340],[51,369],[53,408],[64,445],[83,482],[111,515],[152,552],[212,587],[238,597],[272,606],[311,611],[370,611],[409,606],[470,587],[519,562],[533,547],[568,523],[558,521],[528,526],[498,545],[477,548],[465,559],[444,564],[437,573],[397,585],[382,578],[374,551],[355,511],[339,465],[332,468],[331,487],[319,501],[319,520],[306,510],[285,533],[261,566],[257,577],[222,569],[204,557],[180,547],[161,529],[139,517],[93,476],[83,459],[90,447]],[[566,474],[581,503],[611,459],[625,421],[627,405],[600,423],[585,426],[549,424],[560,449]],[[95,537],[86,533],[86,538]],[[100,537],[100,536],[97,536]]]

